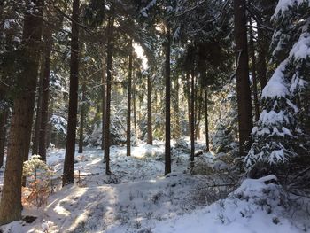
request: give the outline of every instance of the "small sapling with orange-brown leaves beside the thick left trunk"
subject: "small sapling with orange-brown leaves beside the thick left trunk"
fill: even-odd
[[[53,171],[39,155],[33,155],[24,162],[23,175],[27,178],[27,187],[23,187],[23,206],[43,206],[50,195]]]

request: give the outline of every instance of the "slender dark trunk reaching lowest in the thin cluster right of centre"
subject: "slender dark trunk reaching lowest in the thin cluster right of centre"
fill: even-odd
[[[195,158],[195,71],[191,72],[190,82],[190,170],[194,168]]]

